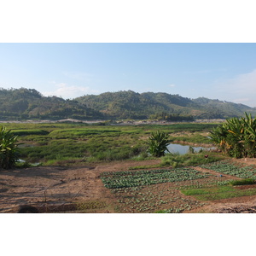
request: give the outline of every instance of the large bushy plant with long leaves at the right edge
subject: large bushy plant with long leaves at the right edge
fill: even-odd
[[[232,157],[256,157],[256,119],[245,113],[245,118],[227,119],[211,132],[212,142],[224,154]]]

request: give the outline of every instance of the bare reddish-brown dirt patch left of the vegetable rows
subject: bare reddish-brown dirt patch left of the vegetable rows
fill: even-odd
[[[143,165],[158,162],[148,160],[143,161]],[[96,205],[96,212],[114,212],[113,195],[103,186],[100,173],[125,171],[140,164],[139,161],[124,161],[96,167],[39,166],[2,170],[0,212],[18,212],[23,205],[37,207],[40,212],[62,212],[73,210],[74,202],[79,202],[82,209],[92,208],[89,212],[95,212],[93,205]]]

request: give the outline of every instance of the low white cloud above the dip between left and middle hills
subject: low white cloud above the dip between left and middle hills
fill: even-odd
[[[85,94],[97,94],[99,91],[92,90],[86,86],[68,85],[65,83],[55,84],[54,90],[42,92],[44,96],[61,96],[65,99],[72,99]]]

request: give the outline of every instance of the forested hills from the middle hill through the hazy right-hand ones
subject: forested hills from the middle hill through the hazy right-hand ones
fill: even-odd
[[[170,95],[167,93],[134,91],[106,92],[95,96],[76,98],[84,106],[96,109],[108,116],[131,119],[179,118],[189,119],[226,119],[241,116],[244,112],[255,115],[256,109],[232,102],[221,102],[198,98]]]

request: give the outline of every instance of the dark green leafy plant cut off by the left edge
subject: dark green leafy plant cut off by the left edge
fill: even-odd
[[[2,126],[0,131],[0,169],[13,168],[19,160],[17,139],[17,136]]]

